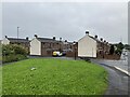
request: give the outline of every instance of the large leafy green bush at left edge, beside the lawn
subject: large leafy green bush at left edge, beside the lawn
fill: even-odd
[[[17,61],[27,58],[27,50],[21,45],[2,45],[2,63]]]

